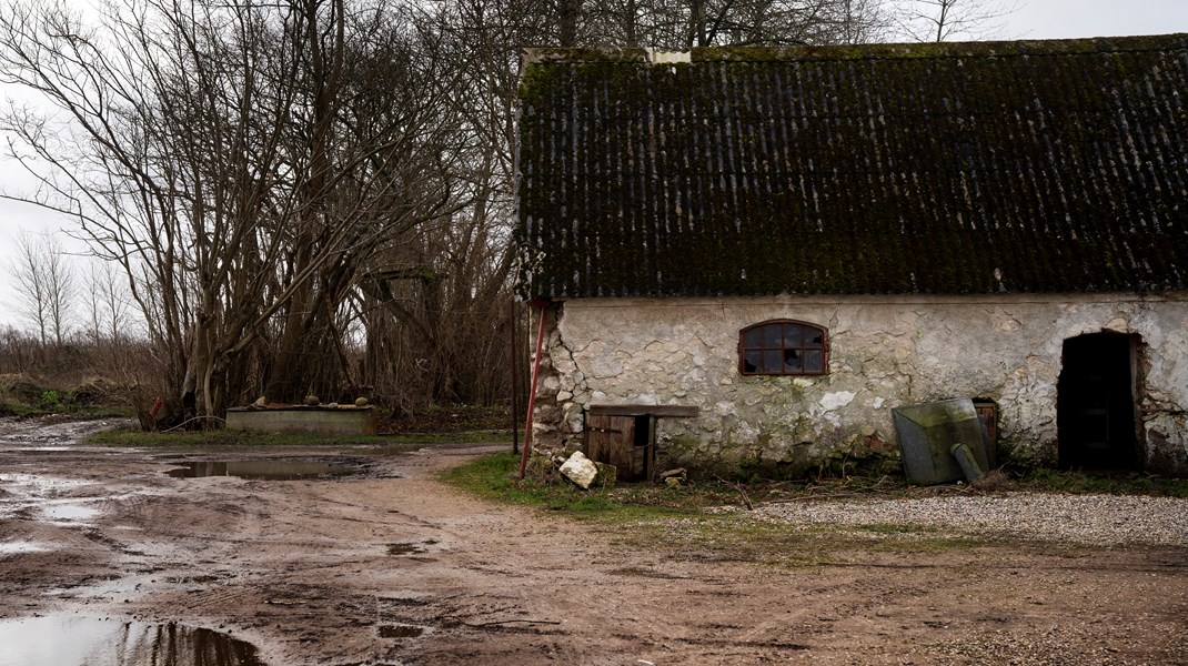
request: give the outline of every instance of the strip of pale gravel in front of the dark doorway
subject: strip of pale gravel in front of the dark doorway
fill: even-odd
[[[1188,499],[1131,495],[928,497],[797,501],[756,507],[756,518],[789,524],[921,525],[972,534],[1092,545],[1188,545]]]

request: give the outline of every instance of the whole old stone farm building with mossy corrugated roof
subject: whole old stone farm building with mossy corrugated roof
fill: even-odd
[[[539,443],[808,469],[977,398],[1000,457],[1188,474],[1188,36],[535,51],[520,95]]]

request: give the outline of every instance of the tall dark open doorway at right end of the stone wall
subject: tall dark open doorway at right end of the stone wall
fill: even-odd
[[[1062,468],[1138,469],[1137,349],[1136,335],[1087,334],[1064,341],[1056,385]]]

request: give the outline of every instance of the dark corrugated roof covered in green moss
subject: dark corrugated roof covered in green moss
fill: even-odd
[[[524,296],[1188,288],[1188,34],[525,63]]]

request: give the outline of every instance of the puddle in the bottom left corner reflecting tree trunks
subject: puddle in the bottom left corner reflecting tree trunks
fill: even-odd
[[[263,666],[255,646],[210,629],[95,617],[0,621],[0,666]]]

